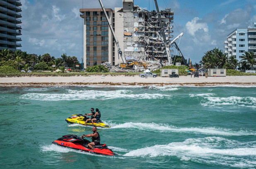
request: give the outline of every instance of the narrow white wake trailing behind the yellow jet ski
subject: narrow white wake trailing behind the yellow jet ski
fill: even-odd
[[[247,136],[247,135],[256,135],[256,131],[234,131],[231,129],[222,129],[215,127],[174,127],[167,124],[156,124],[156,123],[133,123],[127,122],[123,124],[109,124],[111,129],[117,128],[136,128],[140,130],[150,130],[156,132],[190,132],[190,133],[200,133],[200,134],[214,134],[222,136]]]

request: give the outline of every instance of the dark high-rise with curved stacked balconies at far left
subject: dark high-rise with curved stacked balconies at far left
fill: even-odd
[[[21,2],[19,0],[0,0],[0,49],[18,50],[21,47],[20,37],[21,26],[18,25],[22,21],[21,18]]]

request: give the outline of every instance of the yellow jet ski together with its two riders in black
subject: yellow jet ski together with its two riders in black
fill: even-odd
[[[94,108],[91,108],[91,113],[85,113],[85,115],[82,114],[74,114],[71,115],[70,117],[68,117],[66,119],[66,122],[68,122],[69,124],[82,124],[82,125],[86,125],[86,126],[96,126],[96,127],[104,127],[104,128],[108,128],[110,126],[104,124],[100,119],[100,112],[99,109],[96,113],[94,112]],[[96,114],[96,117],[94,117],[94,115]],[[92,115],[92,118],[89,118],[87,116]]]

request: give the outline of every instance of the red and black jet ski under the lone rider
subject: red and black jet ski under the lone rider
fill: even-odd
[[[106,144],[100,144],[93,146],[94,150],[89,149],[88,143],[91,143],[89,140],[81,138],[74,134],[68,134],[58,138],[56,141],[53,141],[53,144],[64,146],[68,148],[74,148],[77,150],[86,151],[89,153],[101,154],[101,155],[118,155],[113,153],[111,149],[106,146]]]

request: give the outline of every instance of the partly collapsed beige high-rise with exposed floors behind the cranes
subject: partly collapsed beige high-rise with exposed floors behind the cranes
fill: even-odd
[[[138,5],[133,4],[133,0],[123,0],[123,7],[115,7],[114,11],[112,9],[107,9],[106,11],[108,12],[109,20],[114,28],[114,32],[126,61],[157,60],[159,61],[159,64],[162,63],[162,61],[167,61],[167,53],[161,38],[165,38],[167,43],[173,38],[171,35],[171,33],[173,33],[173,26],[171,24],[173,23],[174,12],[171,11],[171,9],[160,11],[165,37],[163,37],[161,32],[157,12],[155,10],[147,11],[141,9]],[[84,18],[85,25],[84,60],[86,65],[94,66],[106,61],[113,65],[121,63],[122,61],[118,58],[118,49],[115,45],[113,35],[111,31],[109,31],[109,28],[106,28],[106,23],[104,23],[104,25],[102,24],[103,22],[106,22],[104,17],[102,17],[104,16],[102,14],[102,9],[80,9],[80,12],[82,13],[81,17]],[[92,12],[92,14],[90,12]],[[88,16],[92,17],[95,24],[88,22],[88,20],[90,20]],[[98,20],[101,21],[101,24],[98,24]],[[91,29],[87,28],[91,26],[93,26],[92,31],[95,31],[93,35],[88,31]],[[96,26],[98,26],[98,28],[96,28]],[[102,29],[101,27],[103,26],[105,28]],[[97,33],[97,31],[101,31],[101,34]],[[93,38],[87,38],[90,36],[93,36]],[[97,38],[97,36],[101,37]],[[102,38],[102,36],[107,36],[108,38]],[[101,43],[96,41],[98,39]],[[93,45],[92,43],[88,43],[88,41],[93,41]],[[105,45],[105,47],[103,45]],[[100,51],[100,49],[97,49],[97,46],[101,46],[101,49],[105,50]],[[106,50],[106,48],[108,49]],[[106,57],[102,57],[102,54],[105,54],[106,56],[106,51],[108,57],[107,60]],[[173,50],[170,50],[170,52],[173,52]],[[92,56],[93,58],[91,58]]]

